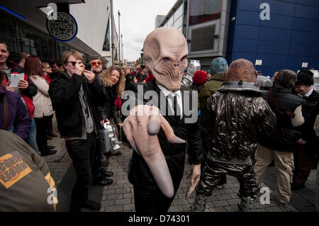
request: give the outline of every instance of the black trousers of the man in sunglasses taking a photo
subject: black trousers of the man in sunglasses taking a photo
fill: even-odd
[[[73,166],[77,173],[70,208],[77,208],[88,199],[88,187],[92,179],[91,165],[96,149],[96,135],[94,132],[86,135],[86,140],[68,140],[66,142],[67,152],[73,160]]]

